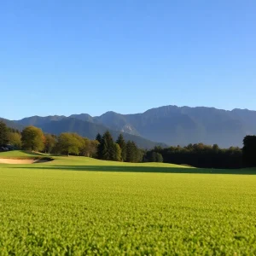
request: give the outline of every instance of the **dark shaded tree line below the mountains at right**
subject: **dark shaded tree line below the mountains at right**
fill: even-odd
[[[159,154],[163,162],[177,165],[188,165],[199,168],[238,169],[256,167],[256,136],[246,136],[243,148],[219,148],[217,144],[189,144],[185,147],[155,147],[146,153],[150,156]],[[151,161],[151,160],[150,160]]]

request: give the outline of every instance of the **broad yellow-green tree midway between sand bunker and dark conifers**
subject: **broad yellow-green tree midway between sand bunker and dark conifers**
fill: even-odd
[[[61,154],[79,154],[79,149],[83,147],[83,143],[79,135],[75,133],[63,132],[58,137],[56,145],[57,150]]]

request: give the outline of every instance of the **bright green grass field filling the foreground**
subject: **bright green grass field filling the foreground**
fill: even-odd
[[[0,164],[0,255],[254,255],[255,173],[84,157]]]

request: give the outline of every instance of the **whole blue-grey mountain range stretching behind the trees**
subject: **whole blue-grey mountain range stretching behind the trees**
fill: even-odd
[[[256,134],[256,111],[165,106],[135,114],[109,111],[96,117],[88,113],[69,117],[32,116],[9,121],[9,125],[10,123],[19,127],[35,125],[54,134],[73,131],[89,138],[95,138],[97,132],[103,133],[107,129],[116,138],[121,131],[126,139],[134,140],[143,148],[165,144],[183,146],[189,143],[217,143],[220,147],[227,148],[241,147],[243,137]]]

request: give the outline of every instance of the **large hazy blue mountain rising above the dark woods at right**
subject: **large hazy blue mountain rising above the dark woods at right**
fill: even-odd
[[[113,116],[114,113],[108,122],[107,113],[99,119],[113,128],[117,127]],[[202,142],[218,143],[221,147],[241,146],[243,137],[256,134],[256,112],[247,109],[165,106],[121,117],[122,125],[131,126],[138,135],[174,145]]]

